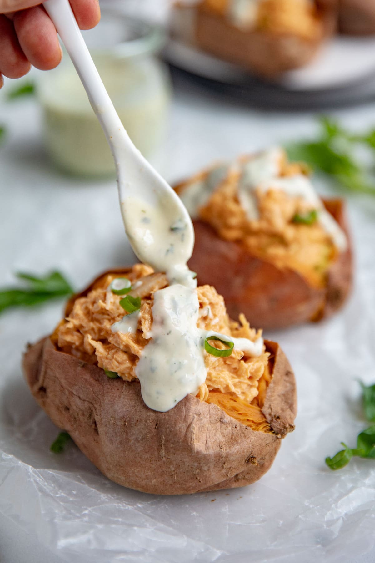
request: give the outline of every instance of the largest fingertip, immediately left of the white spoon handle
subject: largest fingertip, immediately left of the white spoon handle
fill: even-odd
[[[62,57],[61,47],[55,26],[42,7],[16,12],[13,24],[22,51],[33,66],[50,70],[58,65]]]

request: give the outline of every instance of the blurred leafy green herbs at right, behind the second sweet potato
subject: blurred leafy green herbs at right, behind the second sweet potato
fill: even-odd
[[[286,150],[290,160],[309,164],[314,171],[329,175],[347,190],[375,195],[375,180],[354,155],[359,145],[369,149],[375,163],[375,129],[354,135],[336,120],[323,117],[316,140],[296,142]]]

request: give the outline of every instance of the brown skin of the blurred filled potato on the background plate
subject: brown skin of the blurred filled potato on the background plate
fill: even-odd
[[[332,35],[336,29],[336,0],[320,0],[316,3],[322,22],[321,33],[310,40],[292,34],[241,30],[223,17],[201,9],[200,5],[197,8],[177,5],[174,17],[177,19],[180,16],[186,21],[191,20],[194,13],[195,27],[191,42],[198,48],[264,77],[275,77],[307,64],[324,38]],[[186,41],[187,37],[184,39]]]

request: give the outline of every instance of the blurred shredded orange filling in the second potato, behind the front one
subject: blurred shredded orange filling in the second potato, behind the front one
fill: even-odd
[[[242,157],[240,163],[249,158]],[[308,174],[306,167],[288,163],[283,154],[279,177],[301,173]],[[227,177],[206,205],[198,209],[198,217],[211,225],[221,238],[241,242],[252,255],[280,269],[288,267],[299,272],[313,287],[324,287],[327,270],[338,254],[337,248],[318,221],[312,225],[293,222],[293,217],[311,211],[311,206],[282,190],[256,190],[259,218],[249,220],[238,199],[240,175],[238,166],[229,168]],[[190,184],[190,181],[183,184],[178,193],[183,193]]]

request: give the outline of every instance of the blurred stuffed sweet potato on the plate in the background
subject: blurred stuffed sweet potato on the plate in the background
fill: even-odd
[[[265,77],[307,64],[336,28],[335,0],[320,0],[311,6],[300,0],[263,0],[257,5],[257,22],[249,28],[228,18],[227,4],[218,0],[203,0],[195,6],[178,2],[171,15],[171,33]]]

